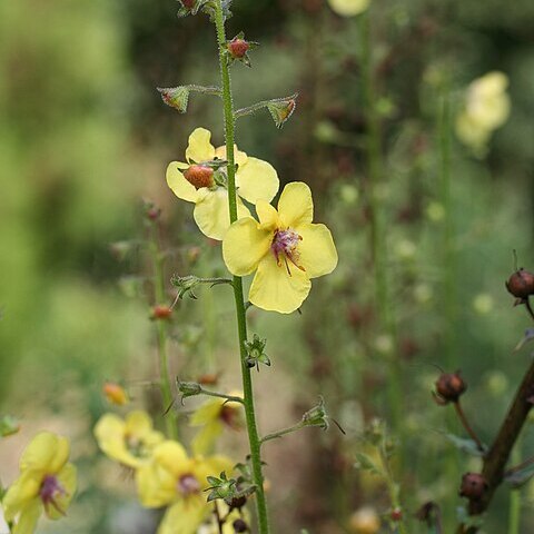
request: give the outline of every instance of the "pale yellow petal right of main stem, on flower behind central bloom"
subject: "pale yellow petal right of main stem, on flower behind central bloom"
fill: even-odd
[[[237,169],[237,194],[251,204],[273,200],[279,186],[275,168],[261,159],[248,158],[246,165]]]

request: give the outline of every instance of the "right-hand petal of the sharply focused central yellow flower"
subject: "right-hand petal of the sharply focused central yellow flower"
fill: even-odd
[[[325,225],[303,225],[296,231],[303,238],[298,245],[299,265],[308,278],[332,273],[337,265],[337,250],[330,230]]]

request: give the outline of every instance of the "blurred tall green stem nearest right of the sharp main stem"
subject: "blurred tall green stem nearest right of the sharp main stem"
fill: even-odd
[[[393,342],[397,350],[397,327],[393,315],[393,301],[389,295],[387,273],[387,245],[384,224],[384,209],[382,202],[382,188],[384,186],[384,171],[382,165],[382,142],[379,119],[376,115],[376,95],[373,76],[372,36],[369,28],[369,13],[358,17],[362,62],[362,92],[366,119],[366,149],[368,164],[369,208],[372,226],[372,253],[375,275],[375,298],[378,307],[380,326]],[[389,376],[387,379],[387,395],[392,412],[392,426],[395,432],[402,428],[403,393],[400,385],[400,366],[394,354],[388,362]]]

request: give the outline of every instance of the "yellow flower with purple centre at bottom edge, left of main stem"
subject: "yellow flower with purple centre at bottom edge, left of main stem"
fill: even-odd
[[[209,515],[206,501],[208,476],[231,469],[224,456],[189,457],[177,442],[159,444],[150,463],[136,472],[139,500],[144,506],[168,506],[159,524],[158,534],[194,534]]]

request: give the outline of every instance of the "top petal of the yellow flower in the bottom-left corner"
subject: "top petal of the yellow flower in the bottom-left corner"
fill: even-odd
[[[57,473],[69,457],[69,441],[50,432],[41,432],[26,447],[20,458],[20,469]]]

